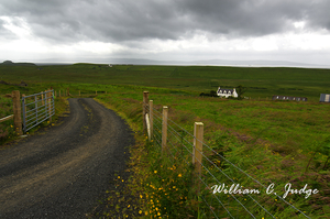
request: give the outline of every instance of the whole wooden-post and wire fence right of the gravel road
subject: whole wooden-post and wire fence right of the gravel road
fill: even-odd
[[[196,127],[202,127],[201,122],[195,122],[194,134],[191,134],[186,129],[168,118],[168,108],[164,106],[163,112],[160,112],[157,109],[153,107],[151,108],[150,105],[147,105],[147,102],[151,101],[148,101],[148,92],[144,92],[143,120],[145,120],[146,114],[148,117],[148,121],[153,120],[153,125],[151,125],[151,123],[146,122],[145,120],[144,122],[146,127],[144,129],[147,130],[150,140],[154,140],[155,146],[158,146],[162,151],[165,150],[164,146],[166,147],[166,151],[168,152],[167,154],[172,157],[172,160],[179,158],[185,161],[185,164],[189,165],[191,164],[190,158],[193,158],[193,162],[195,162],[196,165],[195,172],[197,172],[197,191],[199,197],[202,199],[206,208],[209,209],[209,212],[205,212],[205,216],[212,216],[216,218],[260,218],[261,216],[276,218],[275,215],[279,212],[276,208],[284,206],[284,210],[290,213],[290,217],[302,216],[305,218],[309,218],[306,213],[286,201],[277,194],[267,194],[268,197],[263,196],[258,198],[256,197],[256,195],[258,195],[256,193],[248,193],[243,195],[241,193],[229,193],[231,188],[227,188],[227,194],[221,194],[219,193],[219,190],[218,194],[215,193],[217,191],[217,186],[219,188],[219,186],[221,186],[222,184],[224,187],[224,183],[231,183],[232,185],[234,185],[238,183],[238,178],[240,178],[242,182],[245,182],[246,184],[249,183],[249,186],[254,187],[253,189],[255,191],[258,190],[256,189],[257,186],[262,187],[263,189],[267,189],[267,187],[260,180],[255,179],[250,174],[244,172],[242,168],[234,165],[228,158],[219,154],[217,151],[211,149],[202,141],[202,135],[197,136],[198,132],[196,131]],[[164,119],[166,121],[164,121]],[[164,125],[166,125],[166,129],[164,129]],[[165,136],[164,131],[166,131]],[[198,147],[197,144],[201,145],[201,147]],[[199,154],[199,156],[196,156],[196,154]],[[220,158],[220,165],[212,161],[215,160],[215,157]],[[217,183],[218,185],[215,185],[215,183]],[[204,186],[204,189],[199,189],[200,186]],[[215,189],[212,193],[213,187]],[[223,191],[223,187],[221,191]],[[243,188],[243,186],[235,188],[235,190],[239,189],[246,190],[246,188]],[[274,200],[274,198],[271,197],[276,197],[282,202],[279,204],[277,202],[277,199]],[[265,201],[268,201],[267,206],[264,205]],[[215,204],[221,209],[216,209],[213,206]]]

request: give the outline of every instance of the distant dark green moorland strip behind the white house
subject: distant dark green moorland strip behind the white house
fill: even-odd
[[[0,65],[2,80],[135,85],[187,90],[199,95],[219,86],[248,87],[245,96],[271,98],[273,95],[301,96],[319,100],[329,92],[330,69],[239,68],[217,66],[113,66],[76,64],[65,66]],[[64,77],[65,75],[65,77]]]

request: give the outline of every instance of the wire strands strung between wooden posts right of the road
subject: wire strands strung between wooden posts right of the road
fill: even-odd
[[[166,152],[172,162],[188,166],[195,158],[201,166],[196,178],[205,218],[309,218],[276,194],[272,182],[267,186],[262,184],[242,166],[226,158],[221,151],[217,152],[169,118],[164,121],[164,112],[148,105],[144,108],[153,121],[150,129],[155,146],[163,151],[163,127],[166,125]],[[202,144],[202,150],[196,142]],[[197,152],[201,158],[195,156]]]

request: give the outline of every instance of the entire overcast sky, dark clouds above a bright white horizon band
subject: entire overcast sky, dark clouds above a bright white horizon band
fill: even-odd
[[[0,62],[275,59],[330,65],[330,0],[0,0]]]

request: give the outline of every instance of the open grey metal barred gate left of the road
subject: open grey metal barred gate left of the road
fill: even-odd
[[[42,123],[55,114],[54,90],[22,97],[23,131]]]

